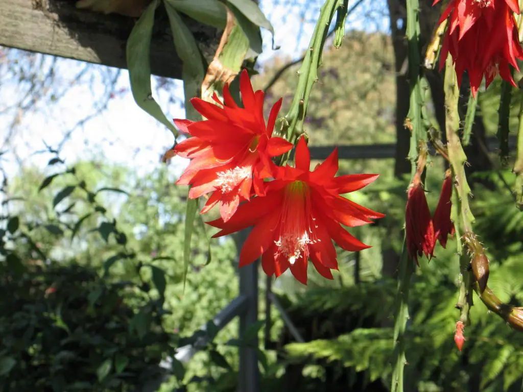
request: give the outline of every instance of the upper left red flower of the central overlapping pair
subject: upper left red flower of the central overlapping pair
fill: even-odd
[[[225,222],[241,200],[249,200],[254,193],[264,194],[263,179],[272,177],[275,167],[270,158],[292,148],[281,137],[271,137],[281,99],[272,107],[266,126],[265,95],[261,90],[253,91],[247,71],[240,76],[240,90],[245,108],[236,105],[229,86],[225,85],[224,103],[213,96],[222,107],[200,98],[191,99],[192,106],[206,121],[174,120],[181,132],[192,136],[174,148],[179,156],[191,159],[176,183],[192,186],[190,199],[212,192],[200,213],[220,203],[220,215]]]

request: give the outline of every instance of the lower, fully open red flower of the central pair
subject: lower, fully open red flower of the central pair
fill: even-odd
[[[267,185],[265,197],[241,205],[228,221],[209,222],[221,229],[213,237],[254,228],[240,253],[240,267],[261,256],[267,275],[280,276],[290,268],[295,278],[307,283],[308,260],[325,278],[338,269],[334,240],[348,251],[369,248],[351,236],[345,226],[372,223],[384,215],[358,205],[340,194],[367,186],[378,175],[334,177],[338,170],[337,149],[314,171],[310,171],[309,148],[302,138],[296,148],[295,167],[282,167]]]

